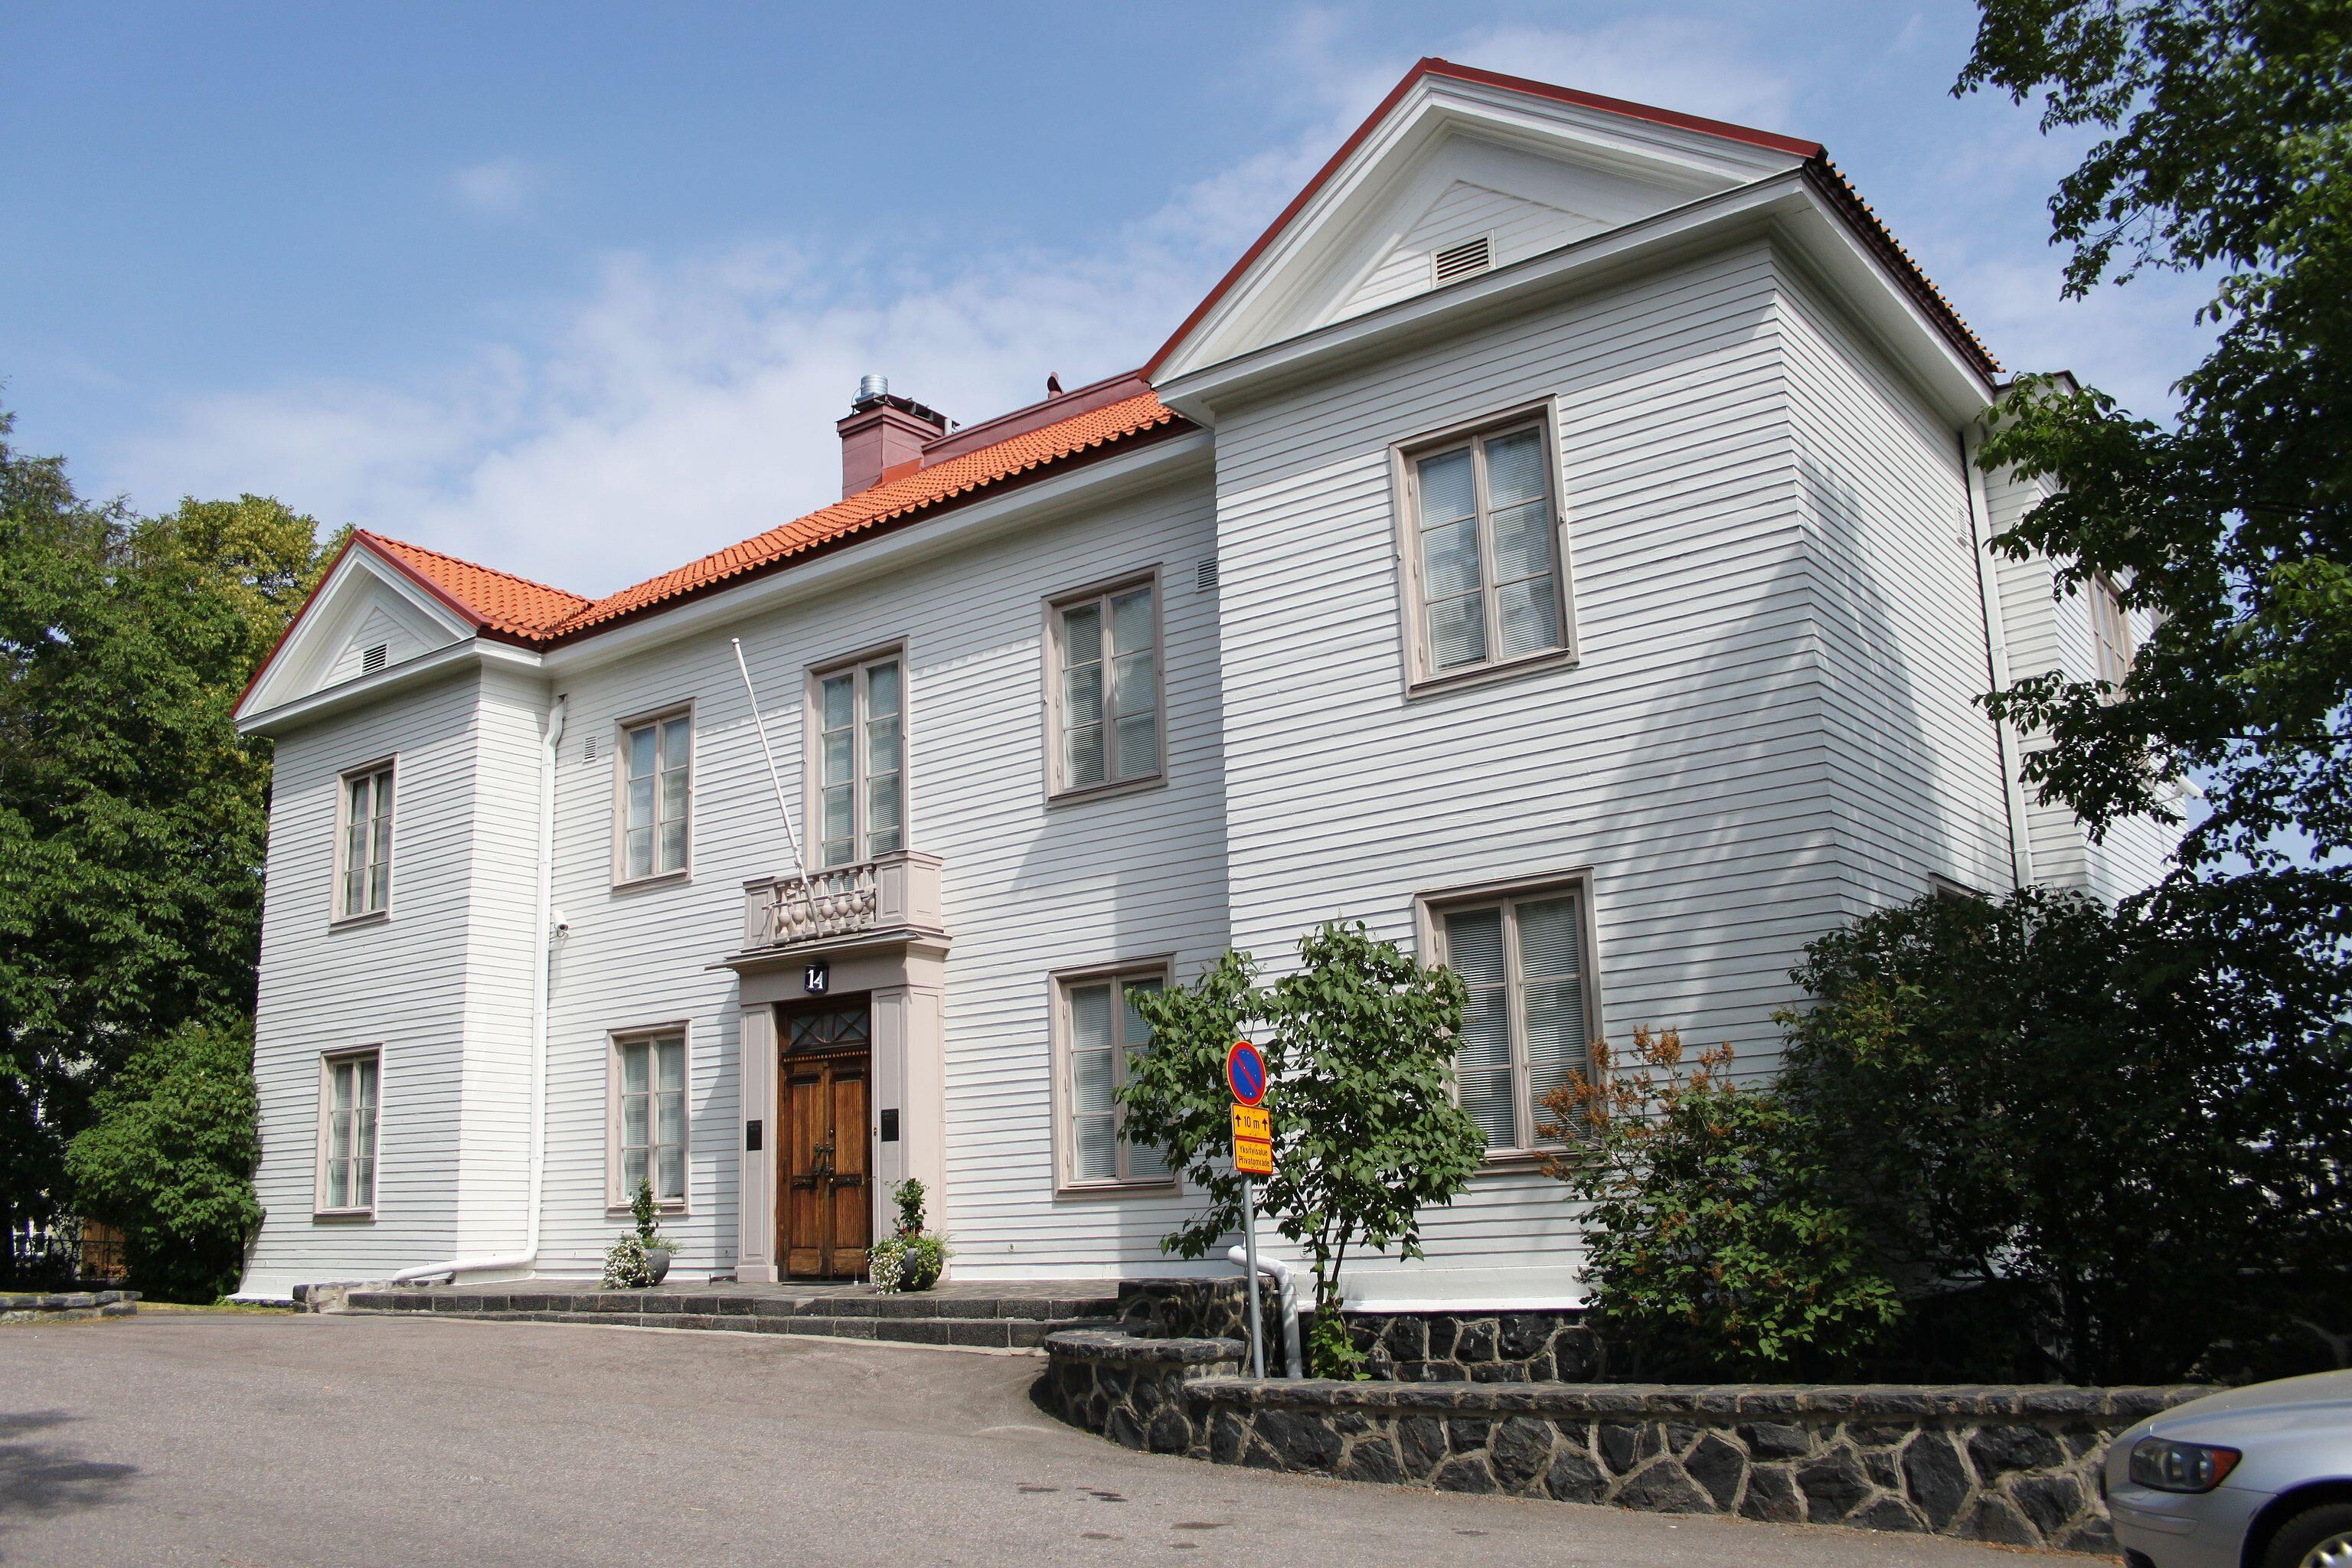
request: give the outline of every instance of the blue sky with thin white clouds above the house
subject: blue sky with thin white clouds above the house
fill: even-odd
[[[2082,141],[1966,5],[14,5],[0,400],[94,494],[275,494],[602,592],[830,501],[861,371],[1138,364],[1421,54],[1830,146],[2011,367],[2145,411],[2199,289],[2067,306]]]

